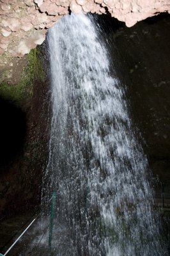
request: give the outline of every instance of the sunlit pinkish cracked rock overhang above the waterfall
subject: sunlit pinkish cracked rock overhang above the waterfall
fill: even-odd
[[[73,13],[110,13],[128,27],[160,12],[170,13],[169,0],[1,0],[0,54],[14,57],[42,44],[47,29]]]

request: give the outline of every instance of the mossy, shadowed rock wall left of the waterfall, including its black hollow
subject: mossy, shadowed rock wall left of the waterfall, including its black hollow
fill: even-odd
[[[0,220],[35,211],[48,157],[50,97],[43,45],[13,59],[19,62],[11,62],[13,72],[6,70],[0,83]]]

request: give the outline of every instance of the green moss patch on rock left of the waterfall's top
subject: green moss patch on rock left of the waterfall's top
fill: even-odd
[[[27,64],[22,70],[20,82],[10,85],[6,82],[0,84],[0,97],[10,100],[17,106],[33,97],[33,84],[35,81],[44,81],[44,73],[39,58],[40,50],[32,49],[27,54]]]

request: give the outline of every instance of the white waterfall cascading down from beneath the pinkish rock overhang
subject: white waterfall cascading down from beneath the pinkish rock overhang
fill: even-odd
[[[55,255],[166,255],[146,157],[93,23],[68,15],[48,33],[52,124],[44,191],[46,200],[57,193],[56,227],[66,241]]]

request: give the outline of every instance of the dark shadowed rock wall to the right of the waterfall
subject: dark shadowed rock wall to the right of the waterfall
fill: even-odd
[[[151,172],[158,177],[161,197],[165,184],[170,199],[170,15],[146,19],[132,28],[109,33],[127,83],[132,119],[148,156]],[[156,179],[155,179],[156,180]]]

